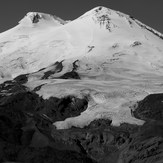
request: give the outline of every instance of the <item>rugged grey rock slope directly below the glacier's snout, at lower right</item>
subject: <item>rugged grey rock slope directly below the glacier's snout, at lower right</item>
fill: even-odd
[[[109,124],[107,120],[98,120],[84,129],[53,130],[52,137],[71,146],[78,145],[80,151],[100,163],[155,163],[163,159],[162,124],[120,127]]]

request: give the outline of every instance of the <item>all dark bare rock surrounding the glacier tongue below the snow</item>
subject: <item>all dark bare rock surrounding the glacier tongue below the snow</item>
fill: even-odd
[[[77,67],[76,67],[77,68]],[[0,85],[0,162],[161,163],[163,94],[138,102],[134,116],[143,126],[99,119],[84,128],[56,130],[52,125],[86,110],[88,99],[44,100],[22,85],[26,75]]]

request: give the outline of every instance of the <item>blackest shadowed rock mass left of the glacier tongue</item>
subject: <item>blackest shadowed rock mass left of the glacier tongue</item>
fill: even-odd
[[[4,90],[0,98],[0,162],[94,162],[70,148],[57,149],[51,137],[52,123],[79,115],[87,108],[87,99],[44,100],[16,80],[2,84],[1,92]]]

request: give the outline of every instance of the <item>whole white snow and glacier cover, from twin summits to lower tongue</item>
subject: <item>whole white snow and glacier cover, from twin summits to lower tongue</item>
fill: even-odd
[[[26,86],[43,84],[37,93],[44,98],[89,96],[88,109],[55,122],[58,129],[83,127],[101,117],[113,125],[142,124],[132,117],[131,104],[160,91],[162,54],[161,33],[118,11],[96,7],[69,22],[30,12],[0,34],[0,76],[2,82],[28,74]],[[58,79],[72,71],[81,80]],[[43,79],[46,72],[53,73]]]

